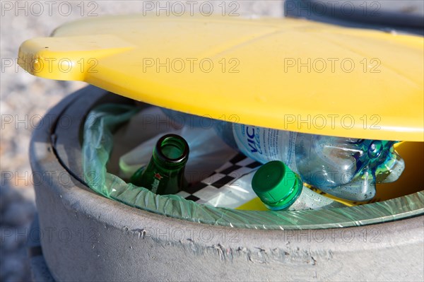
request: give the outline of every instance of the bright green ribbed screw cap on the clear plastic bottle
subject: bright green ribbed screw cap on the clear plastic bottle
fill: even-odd
[[[302,181],[285,163],[273,160],[254,174],[252,189],[271,209],[287,208],[302,192]]]

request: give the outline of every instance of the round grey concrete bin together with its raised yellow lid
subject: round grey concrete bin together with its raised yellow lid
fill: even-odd
[[[391,37],[373,31],[310,25],[303,20],[234,20],[223,24],[216,19],[184,18],[177,20],[179,29],[169,31],[170,24],[175,24],[173,20],[131,17],[83,20],[55,30],[53,37],[24,42],[20,48],[21,65],[31,73],[94,85],[59,102],[46,115],[49,119],[54,117],[54,122],[42,122],[31,141],[30,162],[42,254],[52,277],[56,281],[422,280],[423,68],[419,68],[423,64],[422,42],[407,35]],[[199,43],[200,47],[191,46],[190,40],[195,40],[205,25],[210,28],[210,33],[206,33],[208,40]],[[192,32],[187,33],[187,28],[192,28]],[[222,31],[218,38],[217,28]],[[110,34],[105,35],[103,30]],[[320,58],[343,56],[341,42],[334,43],[335,37],[357,44],[366,38],[368,43],[363,43],[363,49],[371,56],[378,52],[381,71],[386,73],[370,76],[363,69],[324,74],[293,71],[298,67],[292,65],[297,64],[299,56],[307,58],[299,49],[309,48],[299,43],[298,49],[293,49],[284,43],[284,36],[302,42],[308,33],[317,30],[325,35],[329,47],[319,54]],[[273,37],[277,34],[282,38]],[[133,37],[141,38],[143,44],[138,45],[131,40]],[[175,44],[180,41],[185,45]],[[384,42],[389,43],[383,52],[379,47]],[[252,58],[252,52],[258,50],[262,50],[260,59]],[[293,53],[282,54],[281,50]],[[408,54],[401,59],[392,57],[399,50]],[[359,49],[349,52],[350,59],[363,56]],[[180,73],[175,69],[169,72],[156,69],[156,59],[166,62],[168,57],[181,59],[192,54],[214,62],[237,59],[239,72],[228,74],[222,65],[218,70],[204,69],[197,74],[190,68]],[[63,59],[56,71],[41,68],[43,58],[52,56],[58,61]],[[81,57],[95,60],[83,71],[72,68],[68,72],[59,71],[73,66],[69,61]],[[394,65],[398,66],[396,71]],[[368,68],[368,64],[365,66]],[[337,81],[332,81],[336,75]],[[281,76],[287,79],[281,81]],[[376,79],[379,83],[372,83]],[[399,85],[400,81],[404,83]],[[291,92],[282,95],[283,89]],[[364,89],[369,92],[363,93]],[[341,90],[343,97],[339,95]],[[320,99],[314,100],[311,93]],[[399,93],[408,99],[402,99]],[[378,105],[363,102],[370,95]],[[358,99],[358,107],[346,102],[348,98]],[[83,124],[90,110],[111,102],[134,105],[135,100],[208,114],[216,119],[236,114],[237,122],[276,129],[401,139],[404,142],[397,150],[405,160],[406,169],[398,181],[387,184],[384,193],[377,195],[382,200],[378,203],[338,211],[287,212],[281,216],[289,222],[286,225],[261,225],[254,218],[254,224],[241,228],[220,224],[219,220],[207,224],[204,215],[172,218],[161,214],[159,209],[157,213],[143,211],[100,196],[88,187],[83,177]],[[394,112],[406,105],[408,112],[401,115]],[[329,124],[318,130],[298,127],[288,119],[283,122],[293,113],[295,117],[314,113],[349,114],[354,120],[377,114],[381,117],[380,130],[364,128],[363,124],[349,128],[343,127],[346,124]],[[119,144],[129,148],[135,145]],[[313,220],[306,223],[305,218]]]

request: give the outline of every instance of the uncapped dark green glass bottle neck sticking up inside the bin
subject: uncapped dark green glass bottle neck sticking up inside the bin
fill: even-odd
[[[177,134],[167,134],[156,143],[148,165],[137,170],[130,182],[155,194],[176,194],[187,186],[184,168],[188,159],[187,141]]]

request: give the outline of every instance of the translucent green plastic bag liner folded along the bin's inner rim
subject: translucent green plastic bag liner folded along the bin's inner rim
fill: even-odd
[[[90,112],[83,131],[83,170],[86,183],[98,194],[134,208],[185,221],[266,230],[341,228],[394,221],[424,212],[422,191],[363,206],[311,211],[216,208],[197,204],[179,195],[153,194],[148,189],[136,187],[107,171],[112,149],[120,146],[119,143],[114,145],[113,134],[124,127],[139,110],[127,105],[100,105]],[[155,134],[158,132],[146,132],[146,136],[150,137]],[[140,140],[139,143],[143,141]]]

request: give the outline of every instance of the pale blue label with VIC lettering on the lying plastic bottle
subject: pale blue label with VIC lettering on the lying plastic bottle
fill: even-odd
[[[234,124],[233,134],[240,151],[249,158],[260,163],[281,160],[291,170],[297,171],[295,167],[296,132]]]

